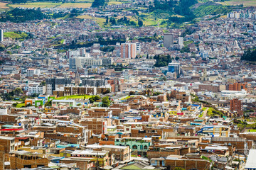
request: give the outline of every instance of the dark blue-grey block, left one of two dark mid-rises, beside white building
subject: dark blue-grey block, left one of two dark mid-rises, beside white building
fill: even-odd
[[[53,94],[53,91],[61,89],[71,84],[70,78],[46,79],[46,94]]]

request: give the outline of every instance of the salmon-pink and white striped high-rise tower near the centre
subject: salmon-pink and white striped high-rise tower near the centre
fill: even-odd
[[[136,43],[123,43],[121,44],[121,57],[122,58],[135,58],[137,55]]]

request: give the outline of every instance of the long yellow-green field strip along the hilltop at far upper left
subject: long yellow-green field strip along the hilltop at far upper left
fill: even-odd
[[[24,8],[53,8],[55,6],[59,6],[61,3],[55,2],[29,2],[26,4],[10,4],[9,6],[12,8],[24,7]]]

